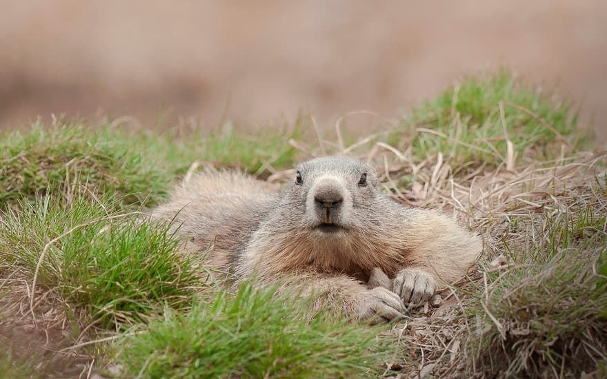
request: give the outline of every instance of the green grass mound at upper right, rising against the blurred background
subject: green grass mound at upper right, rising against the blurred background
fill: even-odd
[[[583,142],[576,128],[577,116],[569,103],[557,103],[502,70],[468,76],[414,107],[389,141],[401,151],[410,150],[417,160],[441,152],[455,167],[496,166],[507,160],[506,139],[513,143],[519,163],[524,158],[556,158],[563,142],[566,154],[573,152]]]

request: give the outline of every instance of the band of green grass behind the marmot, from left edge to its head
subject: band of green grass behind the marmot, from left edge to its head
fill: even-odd
[[[0,208],[14,207],[21,198],[83,187],[118,194],[121,202],[115,205],[121,209],[151,206],[195,161],[261,174],[264,165],[291,165],[297,151],[287,141],[301,135],[301,122],[282,129],[252,136],[225,127],[181,139],[70,123],[5,132],[0,135]]]

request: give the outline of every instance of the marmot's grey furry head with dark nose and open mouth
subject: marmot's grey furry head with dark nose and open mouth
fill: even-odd
[[[345,156],[316,158],[295,167],[283,201],[292,204],[301,226],[324,237],[344,236],[363,227],[379,180],[370,165]]]

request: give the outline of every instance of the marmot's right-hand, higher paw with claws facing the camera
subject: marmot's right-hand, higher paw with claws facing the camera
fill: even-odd
[[[435,280],[420,269],[403,269],[394,278],[392,290],[406,305],[417,307],[434,295]]]

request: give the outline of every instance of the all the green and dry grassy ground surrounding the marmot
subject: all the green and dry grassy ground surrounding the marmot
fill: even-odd
[[[73,359],[115,377],[389,376],[390,361],[405,376],[604,376],[607,158],[581,151],[569,105],[509,72],[462,80],[354,150],[395,197],[454,212],[485,240],[443,305],[404,323],[310,320],[305,302],[271,289],[206,285],[184,241],[138,213],[197,165],[290,177],[308,155],[297,146],[320,150],[297,141],[304,126],[247,136],[227,124],[205,135],[54,123],[0,135],[0,338],[23,329],[31,338],[13,342],[39,345],[1,350],[0,372],[69,377]]]

